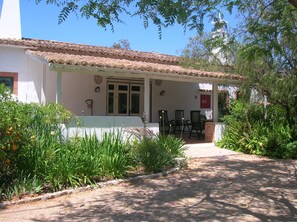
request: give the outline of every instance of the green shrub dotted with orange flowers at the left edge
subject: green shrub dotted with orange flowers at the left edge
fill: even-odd
[[[1,91],[1,87],[0,87]],[[18,177],[17,163],[24,149],[30,146],[27,107],[9,97],[0,102],[0,184],[9,184]]]

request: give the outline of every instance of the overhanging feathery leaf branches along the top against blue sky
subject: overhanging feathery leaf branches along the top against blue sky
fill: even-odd
[[[215,17],[219,11],[227,10],[232,13],[234,9],[245,14],[251,6],[257,4],[266,7],[282,3],[297,9],[297,0],[35,0],[36,3],[46,2],[61,7],[59,22],[63,22],[69,13],[75,12],[85,18],[93,17],[98,25],[106,28],[113,27],[115,22],[121,22],[123,13],[139,16],[143,19],[144,27],[149,22],[157,25],[161,30],[175,23],[185,28],[197,29],[200,33],[204,27],[204,18]],[[257,10],[259,12],[259,10]],[[260,11],[260,13],[262,13]]]

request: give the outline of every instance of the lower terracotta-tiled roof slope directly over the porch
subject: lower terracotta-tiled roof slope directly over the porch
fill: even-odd
[[[80,67],[80,70],[124,70],[127,72],[160,74],[162,76],[171,76],[177,78],[208,79],[218,81],[242,82],[243,77],[234,74],[225,74],[221,72],[208,72],[194,69],[186,69],[176,65],[161,65],[155,63],[128,61],[124,59],[81,56],[74,54],[53,53],[45,51],[27,50],[27,53],[35,55],[39,59],[56,66],[61,67]],[[122,71],[123,72],[123,71]],[[207,81],[206,81],[207,82]]]

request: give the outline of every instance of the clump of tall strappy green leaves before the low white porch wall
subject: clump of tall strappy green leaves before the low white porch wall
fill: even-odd
[[[60,142],[47,154],[44,179],[52,189],[60,190],[121,178],[132,167],[129,151],[120,133],[105,133],[101,140],[85,135]]]

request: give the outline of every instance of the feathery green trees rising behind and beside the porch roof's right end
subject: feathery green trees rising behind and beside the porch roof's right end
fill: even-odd
[[[184,56],[194,60],[186,60],[186,65],[246,76],[242,94],[248,95],[251,88],[256,89],[268,97],[269,103],[282,105],[287,119],[293,123],[297,106],[294,100],[297,94],[297,10],[288,2],[277,0],[250,1],[241,6],[238,11],[244,17],[244,24],[238,29],[240,32],[229,36],[227,43],[223,38],[210,35],[190,39]],[[220,66],[218,59],[209,62],[216,48],[230,57],[231,69]]]

